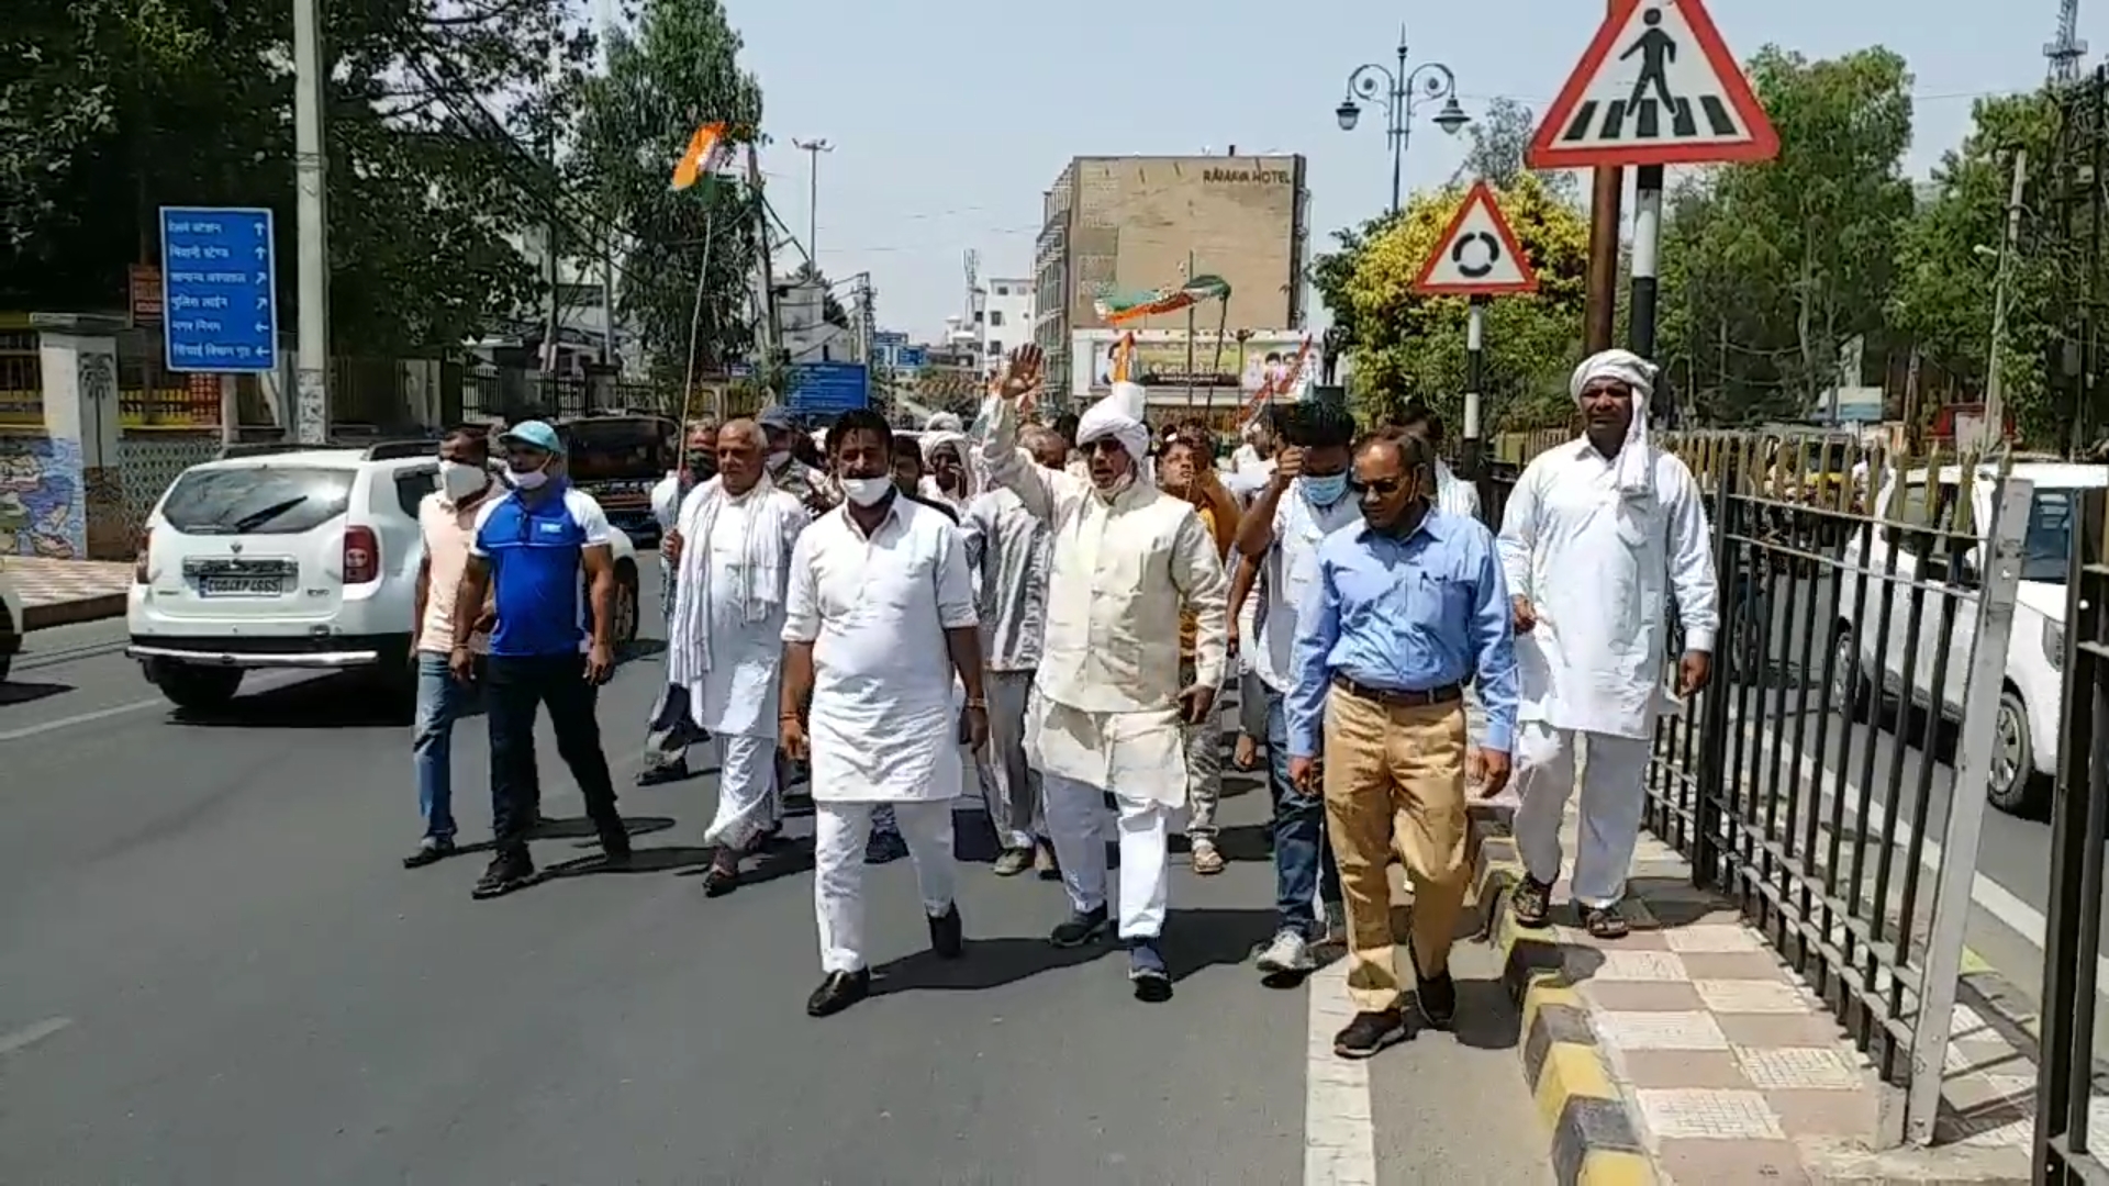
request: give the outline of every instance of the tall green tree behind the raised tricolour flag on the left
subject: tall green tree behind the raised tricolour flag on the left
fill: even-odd
[[[725,177],[669,188],[698,125],[725,122],[740,144],[759,135],[761,87],[740,70],[738,53],[719,0],[645,0],[637,34],[610,34],[607,72],[580,95],[572,175],[622,241],[618,306],[639,327],[654,369],[671,378],[692,361],[707,371],[753,348],[761,196]]]

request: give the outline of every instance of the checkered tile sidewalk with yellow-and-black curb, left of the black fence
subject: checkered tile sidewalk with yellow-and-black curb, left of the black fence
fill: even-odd
[[[1573,838],[1569,806],[1569,859]],[[1556,924],[1516,926],[1499,891],[1518,876],[1506,827],[1487,836],[1481,897],[1497,899],[1491,926],[1523,1000],[1525,1074],[1552,1127],[1561,1182],[2027,1180],[2025,1148],[2006,1142],[1873,1152],[1888,1089],[1869,1061],[1759,933],[1694,888],[1691,867],[1653,836],[1634,853],[1626,939],[1569,926],[1565,878]]]

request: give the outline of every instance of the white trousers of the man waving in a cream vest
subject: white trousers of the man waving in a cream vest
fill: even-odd
[[[1046,791],[1048,831],[1054,859],[1061,861],[1061,884],[1078,912],[1105,905],[1105,791],[1067,779],[1042,774]],[[1164,933],[1164,901],[1170,895],[1170,867],[1164,838],[1170,834],[1170,808],[1156,800],[1130,800],[1116,793],[1120,829],[1120,937],[1156,939]]]

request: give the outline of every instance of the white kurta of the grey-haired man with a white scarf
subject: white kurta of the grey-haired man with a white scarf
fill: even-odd
[[[717,500],[715,521],[709,515]],[[675,616],[688,614],[690,597],[707,597],[711,669],[688,684],[690,718],[711,732],[776,739],[776,692],[782,669],[782,629],[789,599],[789,566],[763,574],[774,582],[774,610],[749,620],[740,589],[747,585],[749,532],[776,532],[776,555],[789,557],[806,528],[808,513],[780,490],[755,487],[728,496],[711,481],[681,502],[683,547],[704,549],[704,580],[683,580],[675,589]]]

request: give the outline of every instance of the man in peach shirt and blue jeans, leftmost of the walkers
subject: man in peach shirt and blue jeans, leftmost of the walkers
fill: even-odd
[[[475,705],[470,684],[447,671],[453,654],[453,591],[468,568],[468,544],[475,536],[483,500],[496,492],[489,468],[489,439],[456,428],[439,443],[439,490],[418,502],[418,534],[424,536],[424,559],[418,563],[418,610],[413,620],[418,642],[411,663],[418,667],[418,715],[411,728],[411,755],[418,768],[418,806],[424,812],[424,840],[403,857],[405,869],[443,861],[453,846],[453,722]],[[439,589],[434,597],[432,591]],[[470,673],[491,644],[489,604],[470,627]]]

